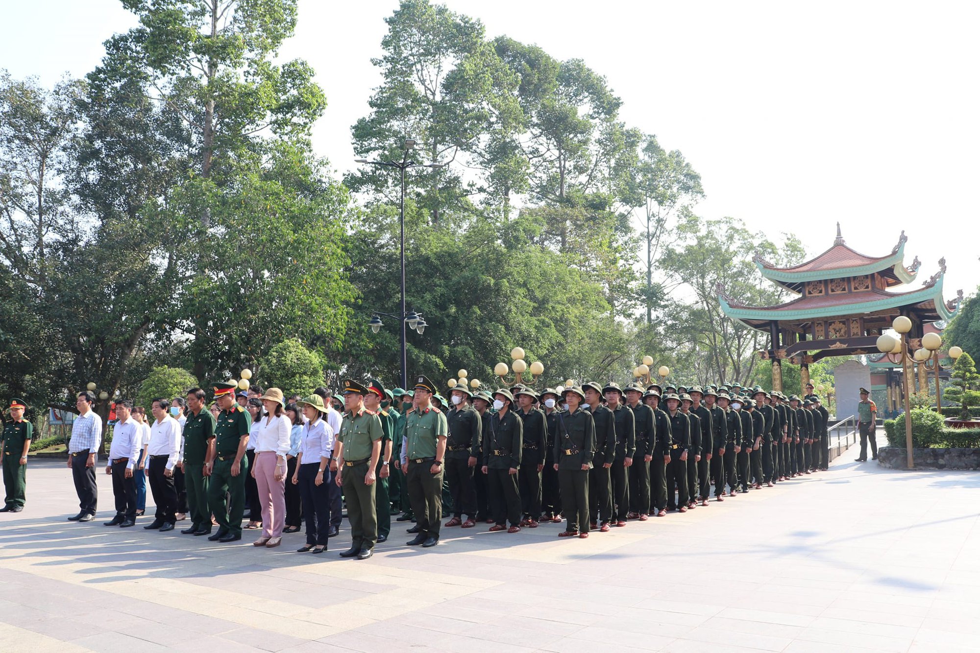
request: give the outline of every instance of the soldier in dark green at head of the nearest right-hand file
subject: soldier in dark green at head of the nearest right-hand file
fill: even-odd
[[[592,413],[583,410],[585,393],[566,388],[563,394],[568,410],[558,416],[555,435],[554,469],[562,484],[562,504],[567,520],[560,537],[589,536],[589,470],[595,449],[596,427]]]

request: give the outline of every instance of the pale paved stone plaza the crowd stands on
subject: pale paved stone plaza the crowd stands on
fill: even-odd
[[[32,461],[0,515],[3,651],[980,649],[980,474],[853,462],[588,539],[405,525],[367,561],[76,524],[70,470]],[[152,513],[152,508],[148,510]],[[183,528],[186,523],[178,524]]]

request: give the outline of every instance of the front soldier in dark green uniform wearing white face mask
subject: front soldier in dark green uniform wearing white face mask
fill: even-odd
[[[520,531],[520,493],[517,470],[523,445],[523,422],[514,414],[514,396],[507,388],[493,394],[497,411],[490,417],[489,430],[483,432],[483,473],[487,475],[490,509],[495,524],[490,531]],[[507,528],[508,521],[511,528]]]

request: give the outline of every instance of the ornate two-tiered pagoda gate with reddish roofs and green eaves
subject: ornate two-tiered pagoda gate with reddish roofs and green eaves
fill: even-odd
[[[910,350],[921,347],[924,325],[948,320],[959,307],[963,291],[943,301],[943,275],[946,259],[939,271],[921,288],[897,293],[891,288],[911,284],[918,274],[918,257],[906,267],[906,232],[899,237],[891,254],[867,257],[845,245],[841,225],[829,250],[793,267],[776,267],[757,255],[754,260],[762,276],[799,295],[787,303],[749,306],[725,294],[722,284],[715,289],[721,310],[769,335],[769,349],[760,351],[772,360],[772,389],[782,391],[782,364],[800,365],[802,385],[809,383],[809,363],[827,356],[877,353],[875,342],[899,315],[912,321],[908,333]],[[921,364],[921,363],[920,363]],[[912,367],[907,373],[911,376]],[[908,387],[914,387],[911,378]]]

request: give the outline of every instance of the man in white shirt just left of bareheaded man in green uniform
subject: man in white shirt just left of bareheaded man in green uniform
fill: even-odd
[[[180,452],[180,424],[169,414],[170,407],[170,399],[153,399],[153,416],[157,421],[150,427],[150,442],[146,445],[146,475],[157,513],[153,524],[143,528],[147,531],[159,529],[161,533],[172,531],[176,521],[177,491],[173,487],[173,467]]]

